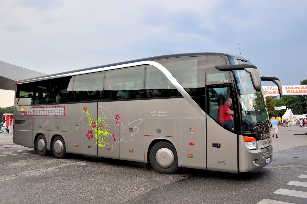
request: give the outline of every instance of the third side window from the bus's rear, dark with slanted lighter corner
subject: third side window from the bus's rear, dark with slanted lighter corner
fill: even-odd
[[[62,77],[51,80],[49,103],[72,102],[73,77]]]

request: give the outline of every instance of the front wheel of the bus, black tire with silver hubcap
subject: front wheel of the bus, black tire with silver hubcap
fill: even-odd
[[[175,147],[165,141],[155,144],[149,154],[150,164],[160,174],[173,174],[178,169],[178,157]]]

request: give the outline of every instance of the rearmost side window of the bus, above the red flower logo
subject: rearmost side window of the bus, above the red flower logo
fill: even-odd
[[[19,106],[33,104],[34,82],[18,84],[16,90],[16,102]]]

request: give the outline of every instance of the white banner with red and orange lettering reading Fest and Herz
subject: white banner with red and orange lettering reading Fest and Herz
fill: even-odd
[[[262,86],[264,96],[279,96],[277,86]],[[282,95],[307,95],[307,85],[282,86]]]

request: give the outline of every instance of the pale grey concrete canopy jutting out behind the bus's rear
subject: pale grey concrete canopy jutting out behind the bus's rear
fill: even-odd
[[[27,79],[47,75],[45,73],[29,70],[0,61],[0,89],[16,90],[16,82],[20,79]]]

